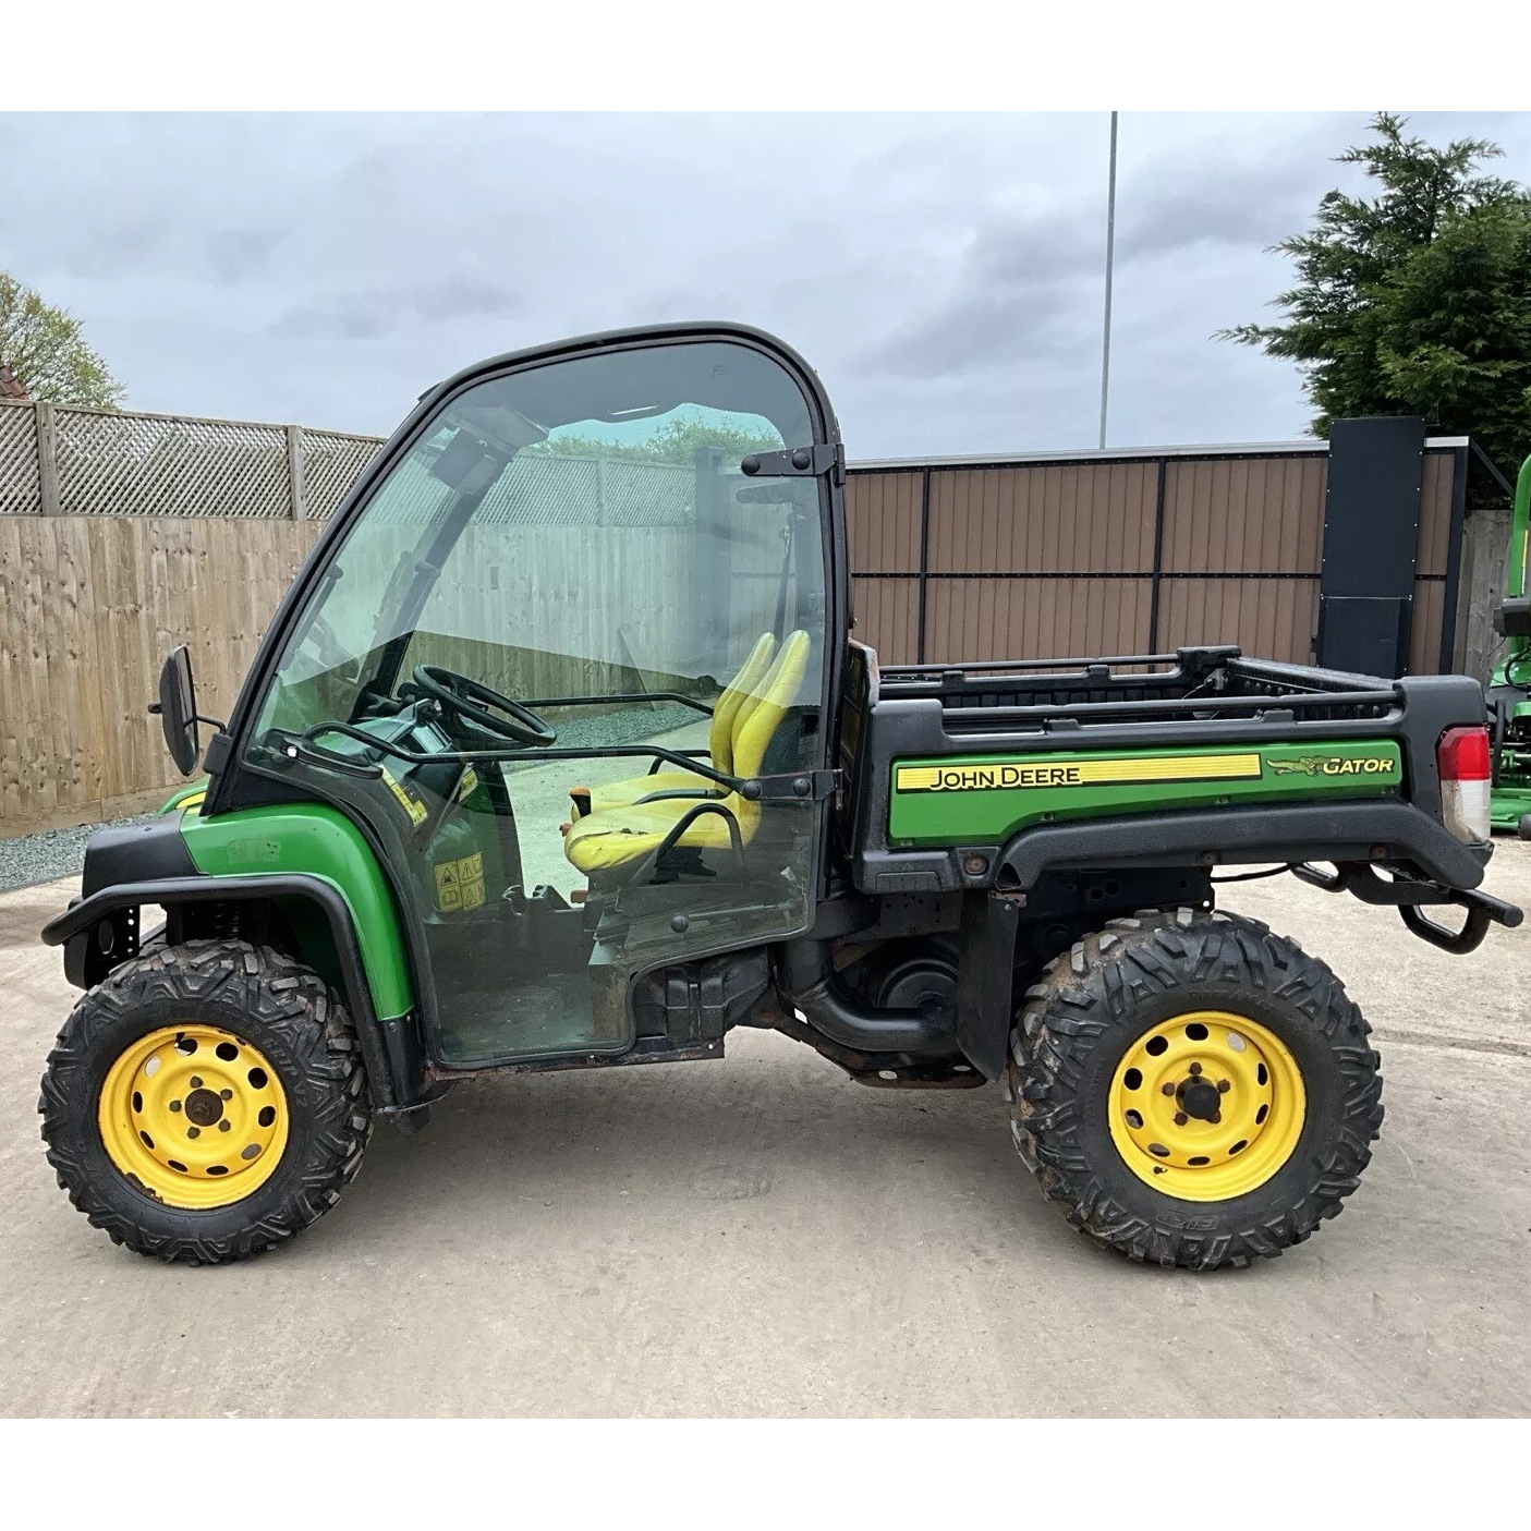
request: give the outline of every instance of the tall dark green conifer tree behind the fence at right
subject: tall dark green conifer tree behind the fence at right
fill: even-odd
[[[1422,415],[1470,435],[1511,476],[1531,452],[1531,197],[1479,175],[1497,145],[1431,149],[1392,112],[1338,156],[1372,196],[1329,191],[1312,228],[1274,248],[1298,282],[1274,300],[1281,325],[1220,338],[1262,346],[1306,374],[1312,432],[1350,415]]]

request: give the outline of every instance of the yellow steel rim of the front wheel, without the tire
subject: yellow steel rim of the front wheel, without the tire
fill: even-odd
[[[167,1206],[240,1202],[282,1162],[288,1104],[276,1070],[216,1026],[162,1026],[126,1047],[96,1102],[107,1157]]]

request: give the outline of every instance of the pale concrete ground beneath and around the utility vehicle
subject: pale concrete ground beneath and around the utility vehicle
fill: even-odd
[[[1531,845],[1488,888],[1531,905]],[[775,1035],[717,1064],[465,1085],[344,1200],[220,1269],[112,1246],[54,1185],[69,1009],[0,897],[0,1413],[1523,1415],[1531,926],[1453,958],[1289,877],[1225,890],[1347,980],[1387,1125],[1338,1222],[1257,1269],[1142,1269],[1036,1193],[997,1087],[868,1090]]]

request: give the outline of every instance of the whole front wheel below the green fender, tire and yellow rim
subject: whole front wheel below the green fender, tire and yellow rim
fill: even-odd
[[[245,1260],[326,1213],[372,1130],[355,1030],[309,968],[188,942],[115,969],[43,1075],[58,1183],[116,1243]]]

